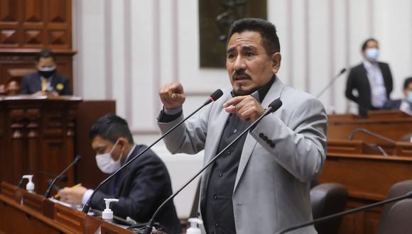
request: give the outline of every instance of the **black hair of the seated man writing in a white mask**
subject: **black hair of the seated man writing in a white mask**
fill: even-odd
[[[129,143],[134,143],[127,122],[114,113],[100,117],[93,124],[90,129],[90,139],[93,140],[97,136],[112,143],[116,143],[120,137],[126,138]]]

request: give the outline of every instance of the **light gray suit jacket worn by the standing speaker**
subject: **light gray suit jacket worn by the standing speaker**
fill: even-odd
[[[313,96],[285,86],[276,78],[262,106],[281,97],[283,106],[262,119],[246,137],[233,193],[238,234],[276,233],[312,220],[310,180],[322,170],[326,151],[325,109]],[[172,153],[205,149],[204,163],[217,152],[229,113],[222,104],[230,89],[164,138]],[[158,123],[162,133],[181,121]],[[264,136],[268,139],[264,140]],[[271,140],[273,144],[268,143]],[[202,175],[200,207],[204,206],[210,167]],[[316,233],[310,226],[294,233]]]

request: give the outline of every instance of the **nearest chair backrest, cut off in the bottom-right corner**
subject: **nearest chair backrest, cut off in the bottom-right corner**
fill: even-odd
[[[412,233],[412,199],[398,201],[387,211],[384,220],[379,222],[377,234]]]

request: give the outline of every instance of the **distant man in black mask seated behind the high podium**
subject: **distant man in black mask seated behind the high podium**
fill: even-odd
[[[72,95],[69,79],[56,72],[56,59],[50,50],[41,50],[36,57],[38,72],[21,77],[20,94]]]

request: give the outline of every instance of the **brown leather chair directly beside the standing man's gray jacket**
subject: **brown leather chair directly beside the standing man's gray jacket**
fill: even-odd
[[[347,189],[342,184],[326,183],[310,189],[313,219],[329,216],[344,211],[347,201]],[[335,218],[315,224],[319,234],[334,234],[339,230],[342,218]]]

